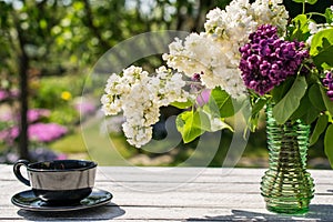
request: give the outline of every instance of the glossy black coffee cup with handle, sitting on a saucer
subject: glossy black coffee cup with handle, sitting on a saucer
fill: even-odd
[[[29,180],[21,167],[27,168]],[[29,163],[19,160],[13,172],[19,181],[32,188],[36,196],[52,203],[79,202],[87,198],[94,185],[97,163],[85,160],[54,160]]]

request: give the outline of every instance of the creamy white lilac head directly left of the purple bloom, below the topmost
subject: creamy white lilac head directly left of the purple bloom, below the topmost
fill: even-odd
[[[208,89],[220,85],[234,98],[244,91],[239,61],[232,60],[230,54],[232,44],[223,44],[223,41],[202,32],[192,33],[184,41],[178,39],[169,49],[170,53],[163,54],[168,65],[190,78],[193,73],[203,72],[201,81]]]

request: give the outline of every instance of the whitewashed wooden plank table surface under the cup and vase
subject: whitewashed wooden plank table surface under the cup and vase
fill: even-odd
[[[305,215],[276,215],[260,194],[264,169],[99,167],[95,188],[110,203],[81,211],[33,212],[11,196],[28,186],[0,164],[0,221],[333,221],[333,171],[310,170],[315,196]]]

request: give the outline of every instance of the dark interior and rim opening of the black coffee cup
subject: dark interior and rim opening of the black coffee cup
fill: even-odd
[[[29,168],[33,170],[85,170],[95,167],[94,162],[81,160],[59,160],[50,162],[39,162],[30,164]]]

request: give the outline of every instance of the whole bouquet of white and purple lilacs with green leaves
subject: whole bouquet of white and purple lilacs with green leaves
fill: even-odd
[[[316,2],[295,1],[303,8]],[[170,43],[167,67],[157,74],[138,67],[111,74],[102,110],[122,112],[124,134],[140,148],[151,140],[161,107],[183,110],[176,128],[191,142],[206,131],[231,129],[225,119],[244,105],[255,130],[261,110],[271,103],[279,124],[296,119],[313,124],[312,144],[325,133],[333,163],[333,7],[322,14],[326,23],[315,23],[312,16],[289,18],[282,0],[233,0],[225,10],[213,9],[204,32]],[[203,103],[198,98],[208,91]]]

